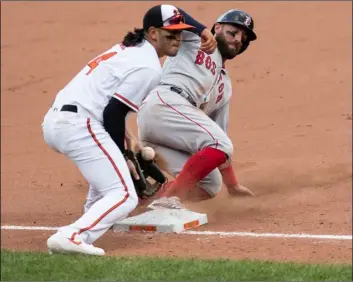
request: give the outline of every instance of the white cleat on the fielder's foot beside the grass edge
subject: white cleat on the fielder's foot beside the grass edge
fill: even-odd
[[[96,248],[83,242],[78,235],[75,240],[68,238],[61,232],[57,232],[47,240],[48,252],[53,253],[80,253],[93,256],[104,256],[101,248]]]

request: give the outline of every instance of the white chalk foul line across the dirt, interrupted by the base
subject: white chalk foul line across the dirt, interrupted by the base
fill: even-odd
[[[17,226],[3,225],[1,230],[42,230],[55,231],[59,227],[48,226]],[[178,234],[200,236],[224,236],[224,237],[256,237],[256,238],[292,238],[292,239],[328,239],[328,240],[352,240],[352,235],[320,235],[320,234],[282,234],[282,233],[255,233],[255,232],[221,232],[221,231],[193,231],[187,230]]]

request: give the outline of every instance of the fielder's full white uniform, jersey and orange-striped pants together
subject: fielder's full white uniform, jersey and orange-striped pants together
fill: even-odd
[[[70,158],[90,184],[85,214],[60,228],[65,242],[91,244],[136,207],[129,168],[104,127],[103,112],[112,97],[137,111],[159,83],[161,71],[149,42],[136,47],[115,45],[89,62],[58,93],[45,115],[44,140]],[[68,110],[68,105],[76,110]]]

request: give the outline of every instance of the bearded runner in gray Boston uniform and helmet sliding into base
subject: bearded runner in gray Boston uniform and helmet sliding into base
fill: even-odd
[[[178,55],[166,60],[161,83],[143,101],[137,121],[141,142],[153,147],[160,166],[176,177],[159,190],[154,204],[174,206],[178,197],[208,199],[222,182],[231,195],[254,195],[238,183],[232,167],[227,135],[232,85],[225,68],[256,39],[253,29],[249,14],[227,11],[212,28],[218,45],[213,54],[200,50],[199,38],[183,31]]]

